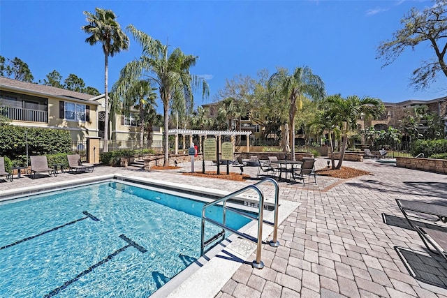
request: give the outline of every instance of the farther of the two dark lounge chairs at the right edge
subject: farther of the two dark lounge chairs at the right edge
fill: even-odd
[[[411,223],[410,217],[423,221],[442,221],[447,223],[447,206],[445,205],[400,199],[396,199],[396,203],[411,228],[414,228],[414,225]],[[423,218],[418,214],[434,216],[434,219]]]

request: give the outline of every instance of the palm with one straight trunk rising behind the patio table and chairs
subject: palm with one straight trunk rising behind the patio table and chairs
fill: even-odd
[[[274,96],[281,96],[288,108],[289,135],[292,160],[295,161],[295,116],[302,107],[305,96],[312,100],[320,100],[325,95],[324,82],[314,75],[309,67],[295,68],[291,75],[281,69],[274,73],[268,84],[273,89]]]

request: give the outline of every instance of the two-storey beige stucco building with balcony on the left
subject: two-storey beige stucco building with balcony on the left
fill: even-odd
[[[10,124],[34,128],[53,128],[69,131],[73,142],[88,137],[103,137],[104,96],[91,96],[51,86],[33,84],[0,77],[0,107]],[[129,116],[111,117],[111,140],[137,142],[140,128],[135,121],[136,111]],[[145,134],[145,140],[147,133]],[[161,147],[163,133],[154,127],[152,146]]]

